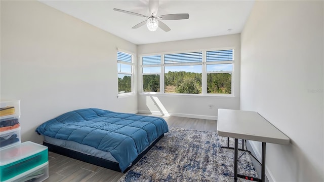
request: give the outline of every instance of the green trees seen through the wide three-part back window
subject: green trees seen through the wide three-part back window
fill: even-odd
[[[143,75],[143,91],[159,92],[159,75]],[[231,94],[232,77],[229,73],[207,74],[207,93]],[[201,74],[169,71],[165,74],[165,93],[201,93]]]

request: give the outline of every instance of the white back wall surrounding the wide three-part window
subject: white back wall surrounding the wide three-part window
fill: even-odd
[[[199,49],[235,47],[234,57],[234,97],[207,96],[168,96],[143,95],[138,96],[138,111],[158,114],[161,111],[172,116],[182,116],[202,119],[217,119],[218,108],[239,108],[239,69],[240,69],[240,34],[218,37],[173,41],[137,46],[138,55],[166,52],[195,51]],[[139,72],[141,70],[139,69]],[[138,77],[141,78],[140,76]],[[140,80],[138,80],[140,83]],[[139,89],[141,86],[138,87]],[[139,90],[140,91],[140,90]],[[158,103],[157,103],[158,102]],[[213,105],[212,109],[208,105]],[[162,107],[162,108],[161,108]]]

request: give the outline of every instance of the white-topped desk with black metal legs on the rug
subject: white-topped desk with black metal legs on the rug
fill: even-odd
[[[237,181],[238,138],[262,142],[261,181],[265,179],[265,144],[289,144],[290,139],[257,112],[218,109],[217,134],[235,138],[234,180]],[[242,177],[243,175],[239,175]]]

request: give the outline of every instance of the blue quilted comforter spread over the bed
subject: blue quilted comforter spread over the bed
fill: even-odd
[[[110,152],[122,172],[152,141],[168,131],[162,118],[98,108],[71,111],[36,128],[38,134]]]

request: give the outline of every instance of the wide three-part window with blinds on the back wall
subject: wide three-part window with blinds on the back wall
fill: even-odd
[[[142,92],[232,94],[233,51],[142,56]]]

